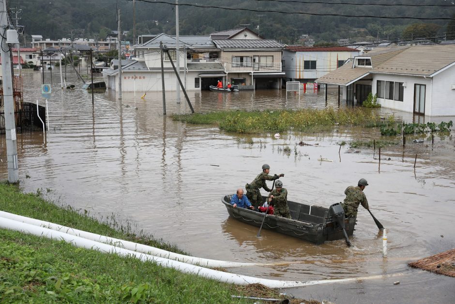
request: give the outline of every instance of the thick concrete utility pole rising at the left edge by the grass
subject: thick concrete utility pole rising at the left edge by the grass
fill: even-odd
[[[0,31],[5,35],[8,29],[8,13],[6,0],[1,3]],[[11,59],[8,54],[10,48],[6,43],[6,37],[1,39],[1,70],[3,73],[3,102],[5,105],[5,129],[6,129],[6,159],[8,162],[8,181],[19,181],[19,163],[17,161],[16,123],[14,116],[13,79],[11,76]]]

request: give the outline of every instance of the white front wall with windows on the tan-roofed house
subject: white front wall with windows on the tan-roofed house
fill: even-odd
[[[373,83],[371,92],[377,94],[377,80],[406,82],[406,87],[403,89],[403,101],[390,100],[385,98],[377,99],[378,103],[384,108],[414,112],[414,84],[425,84],[425,115],[435,115],[431,113],[431,78],[416,77],[416,76],[403,76],[403,75],[389,75],[389,74],[373,74]],[[440,101],[437,101],[438,103]]]

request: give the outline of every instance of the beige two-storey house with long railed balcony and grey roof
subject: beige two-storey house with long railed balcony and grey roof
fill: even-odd
[[[215,39],[227,81],[239,89],[281,88],[284,46],[272,39]],[[226,83],[226,81],[225,81]],[[246,86],[246,87],[245,87]]]

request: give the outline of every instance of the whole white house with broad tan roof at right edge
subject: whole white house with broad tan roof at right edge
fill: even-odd
[[[316,80],[343,87],[362,103],[377,94],[384,108],[430,116],[455,115],[455,46],[376,48]]]

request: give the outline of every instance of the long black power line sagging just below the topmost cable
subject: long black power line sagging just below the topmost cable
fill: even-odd
[[[132,1],[132,0],[128,0]],[[164,3],[169,5],[176,5],[172,2],[166,1],[155,1],[155,0],[138,0],[147,3]],[[349,18],[378,18],[378,19],[416,19],[416,20],[455,20],[455,18],[450,17],[440,17],[440,18],[432,18],[432,17],[409,17],[409,16],[374,16],[374,15],[343,15],[343,14],[318,14],[318,13],[304,13],[304,12],[284,12],[284,11],[275,11],[275,10],[258,10],[258,9],[249,9],[249,8],[231,8],[231,7],[221,7],[221,6],[213,6],[213,5],[201,5],[201,4],[185,4],[179,3],[179,6],[192,6],[198,8],[215,8],[215,9],[222,9],[227,11],[247,11],[247,12],[255,12],[255,13],[278,13],[278,14],[291,14],[291,15],[309,15],[309,16],[338,16],[338,17],[349,17]]]

